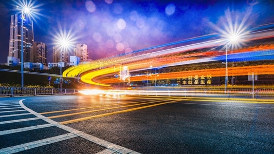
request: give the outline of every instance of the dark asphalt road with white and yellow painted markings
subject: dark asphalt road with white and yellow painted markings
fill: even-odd
[[[140,95],[0,98],[0,153],[272,153],[273,107]]]

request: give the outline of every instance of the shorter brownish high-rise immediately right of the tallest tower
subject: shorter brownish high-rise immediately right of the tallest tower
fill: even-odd
[[[30,62],[47,65],[47,46],[43,42],[33,42],[30,48]]]

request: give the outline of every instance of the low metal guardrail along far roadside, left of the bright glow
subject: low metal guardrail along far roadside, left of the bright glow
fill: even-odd
[[[0,87],[0,96],[16,96],[16,95],[46,95],[46,94],[76,94],[76,89],[60,89],[58,88],[25,88],[25,87]]]

